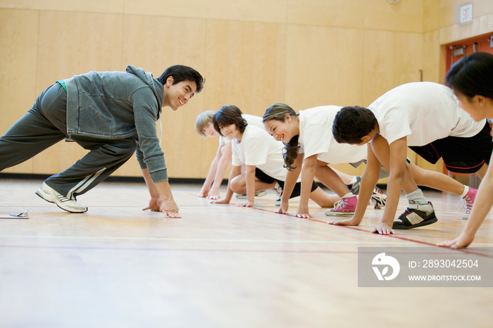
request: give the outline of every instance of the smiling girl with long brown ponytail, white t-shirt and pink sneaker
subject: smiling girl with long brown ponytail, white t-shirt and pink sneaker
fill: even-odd
[[[275,140],[285,144],[285,164],[289,170],[285,193],[281,198],[279,213],[288,208],[289,194],[294,181],[301,174],[301,199],[297,216],[311,217],[308,212],[308,187],[313,177],[317,177],[326,187],[332,189],[340,198],[339,204],[325,215],[353,215],[357,198],[342,179],[327,164],[362,163],[366,160],[366,149],[362,146],[338,144],[332,137],[332,122],[339,106],[320,106],[300,111],[284,103],[275,103],[263,115],[266,130]],[[289,182],[289,183],[288,183]],[[385,205],[385,195],[375,190],[375,200]],[[368,204],[369,199],[366,201]]]

